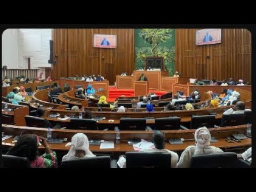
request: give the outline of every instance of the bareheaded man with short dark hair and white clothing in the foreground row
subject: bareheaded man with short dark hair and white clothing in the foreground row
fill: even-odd
[[[161,131],[154,131],[153,134],[153,143],[155,148],[154,149],[141,149],[140,151],[150,152],[150,153],[170,153],[171,154],[171,168],[175,168],[179,159],[177,153],[165,149],[165,135]],[[159,159],[160,160],[160,159]],[[121,168],[126,167],[126,159],[124,156],[120,156],[118,162],[118,166]]]

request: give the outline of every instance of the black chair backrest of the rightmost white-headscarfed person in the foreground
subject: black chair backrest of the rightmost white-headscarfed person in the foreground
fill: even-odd
[[[191,158],[191,168],[235,168],[238,166],[236,153],[194,155]]]

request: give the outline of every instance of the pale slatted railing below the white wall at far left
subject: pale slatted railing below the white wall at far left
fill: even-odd
[[[26,78],[35,78],[37,77],[37,71],[39,69],[6,69],[2,70],[2,80],[5,76],[9,78],[15,79],[16,77],[20,77],[25,75]]]

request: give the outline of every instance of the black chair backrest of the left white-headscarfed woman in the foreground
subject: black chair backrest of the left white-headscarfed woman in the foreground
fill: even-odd
[[[61,162],[62,168],[87,168],[87,169],[108,169],[110,168],[110,157],[86,157]]]

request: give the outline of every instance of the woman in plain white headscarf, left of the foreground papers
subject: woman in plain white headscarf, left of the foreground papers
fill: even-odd
[[[62,161],[74,160],[86,157],[95,157],[89,150],[89,140],[83,133],[76,133],[71,139],[71,148],[68,154],[62,157]]]

